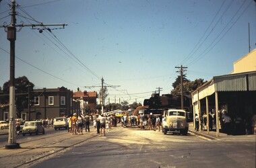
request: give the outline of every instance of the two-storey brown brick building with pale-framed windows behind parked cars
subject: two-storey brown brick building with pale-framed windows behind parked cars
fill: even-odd
[[[32,101],[29,108],[20,112],[24,120],[37,120],[55,118],[58,116],[69,116],[80,112],[79,101],[73,99],[73,91],[58,87],[55,89],[34,89],[30,93]],[[0,109],[0,120],[9,120],[9,106]]]

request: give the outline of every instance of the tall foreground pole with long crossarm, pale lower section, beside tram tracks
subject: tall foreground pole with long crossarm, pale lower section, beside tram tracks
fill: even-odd
[[[46,28],[44,24],[30,24],[30,25],[16,25],[16,11],[15,11],[16,3],[15,0],[11,1],[11,24],[2,25],[0,28],[7,28],[5,30],[7,32],[7,40],[10,42],[10,81],[9,81],[9,136],[8,136],[8,144],[5,145],[5,149],[18,149],[20,148],[20,144],[16,142],[16,134],[15,134],[15,40],[16,40],[16,31],[20,31],[25,26],[30,26],[32,28],[36,26],[42,26],[42,29],[39,30],[41,33],[44,28]],[[55,24],[55,25],[47,25],[47,26],[67,26],[67,24]],[[16,27],[20,27],[19,30],[16,30]],[[49,28],[46,28],[51,32]]]

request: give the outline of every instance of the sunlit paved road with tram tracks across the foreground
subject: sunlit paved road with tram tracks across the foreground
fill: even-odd
[[[120,126],[106,136],[55,134],[0,149],[0,167],[255,167],[255,135],[207,140]]]

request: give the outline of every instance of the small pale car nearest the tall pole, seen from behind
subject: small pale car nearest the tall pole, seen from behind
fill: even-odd
[[[22,135],[25,136],[26,134],[44,134],[44,127],[42,126],[42,122],[25,122],[22,128]]]

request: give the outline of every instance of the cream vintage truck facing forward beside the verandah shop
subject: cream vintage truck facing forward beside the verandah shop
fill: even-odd
[[[164,111],[162,119],[162,132],[178,132],[187,135],[189,124],[187,123],[187,115],[185,110],[171,109]]]

